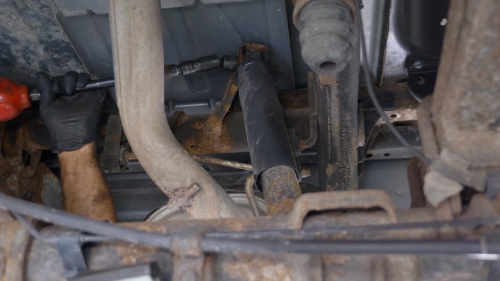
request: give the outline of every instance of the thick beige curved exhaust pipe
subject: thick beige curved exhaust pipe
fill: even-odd
[[[128,142],[171,200],[196,183],[183,210],[195,219],[244,216],[240,207],[177,142],[164,107],[160,1],[110,1],[117,104]],[[147,95],[144,95],[147,93]]]

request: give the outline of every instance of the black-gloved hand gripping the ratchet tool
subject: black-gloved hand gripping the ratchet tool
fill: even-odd
[[[53,79],[40,71],[40,116],[51,135],[53,153],[74,151],[94,142],[101,114],[104,91],[75,93],[90,81],[89,74],[68,71]]]

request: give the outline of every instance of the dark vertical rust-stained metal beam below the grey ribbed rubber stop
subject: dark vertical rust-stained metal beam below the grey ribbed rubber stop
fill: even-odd
[[[327,191],[358,189],[358,74],[353,57],[336,76],[317,76],[319,187]],[[357,75],[356,75],[357,77]]]

